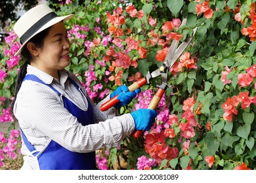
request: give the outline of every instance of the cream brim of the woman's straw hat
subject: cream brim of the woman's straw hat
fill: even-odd
[[[40,33],[41,31],[47,29],[48,27],[51,27],[52,25],[54,24],[57,24],[58,22],[60,21],[66,21],[66,20],[70,20],[70,18],[73,18],[75,15],[74,14],[70,14],[70,15],[67,15],[67,16],[58,16],[56,18],[53,18],[52,20],[50,20],[49,22],[47,22],[47,24],[43,25],[43,27],[41,27],[38,31],[36,31],[29,39],[27,39],[27,41],[25,41],[22,46],[20,46],[20,49],[18,49],[18,51],[16,52],[16,54],[14,54],[14,56],[17,56],[18,54],[20,54],[23,46],[26,45],[26,43],[28,41],[30,41],[30,39],[32,39],[32,37],[34,37],[35,35],[37,35],[38,33]]]

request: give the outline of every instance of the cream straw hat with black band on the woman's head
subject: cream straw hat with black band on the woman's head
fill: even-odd
[[[51,27],[60,21],[66,21],[74,17],[74,14],[67,16],[58,16],[53,10],[45,4],[37,5],[31,8],[16,22],[13,29],[20,38],[22,46],[14,56],[20,54],[23,46],[37,33]]]

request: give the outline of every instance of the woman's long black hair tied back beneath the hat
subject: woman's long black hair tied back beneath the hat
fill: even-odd
[[[41,48],[43,46],[43,40],[45,39],[45,37],[47,37],[49,30],[50,27],[33,36],[32,39],[30,39],[30,41],[28,42],[33,42],[33,44],[35,44],[37,48]],[[20,66],[20,71],[18,71],[18,75],[16,78],[16,84],[14,88],[14,100],[11,103],[12,110],[14,107],[14,103],[16,101],[16,97],[18,95],[18,91],[20,90],[20,86],[22,85],[22,81],[24,80],[27,74],[28,64],[30,64],[30,61],[32,60],[32,55],[27,47],[28,42],[23,46],[20,52],[20,54],[22,55],[22,60],[24,60],[24,63],[22,63],[22,65]]]

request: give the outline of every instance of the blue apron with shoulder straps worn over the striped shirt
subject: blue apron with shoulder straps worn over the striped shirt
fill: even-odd
[[[45,84],[42,80],[37,78],[35,75],[26,75],[24,80],[33,80],[35,82],[39,82],[41,84]],[[69,78],[70,82],[74,84],[77,90],[80,90],[79,86]],[[82,125],[93,124],[93,107],[88,102],[88,110],[81,110],[79,107],[74,105],[72,101],[68,98],[61,95],[56,89],[53,88],[50,84],[45,84],[49,86],[54,92],[58,93],[60,97],[62,97],[64,107],[73,114]],[[81,92],[83,95],[83,92]],[[84,96],[84,95],[83,95]],[[51,140],[49,145],[43,150],[43,152],[38,152],[35,150],[34,146],[28,141],[26,136],[24,135],[22,129],[20,129],[22,139],[26,144],[28,150],[32,152],[33,156],[37,158],[39,163],[39,168],[41,170],[93,170],[96,169],[96,159],[95,152],[89,153],[78,153],[71,152],[67,150],[57,142]]]

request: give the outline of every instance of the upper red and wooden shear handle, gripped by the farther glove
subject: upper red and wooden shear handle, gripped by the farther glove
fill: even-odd
[[[139,80],[137,80],[137,82],[134,82],[131,86],[128,86],[128,89],[129,89],[130,92],[134,92],[137,88],[140,88],[144,84],[146,84],[146,78],[140,78]],[[100,110],[101,111],[106,111],[106,110],[108,110],[108,108],[113,107],[114,105],[119,103],[119,100],[117,99],[117,96],[118,95],[116,95],[112,99],[103,103],[100,106]]]

